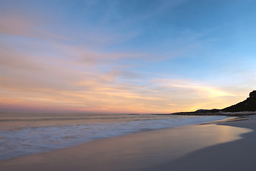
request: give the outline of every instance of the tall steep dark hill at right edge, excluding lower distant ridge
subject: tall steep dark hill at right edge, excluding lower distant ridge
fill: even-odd
[[[237,103],[236,105],[231,105],[230,107],[222,109],[224,112],[242,112],[242,111],[256,111],[256,90],[252,91],[249,98]]]

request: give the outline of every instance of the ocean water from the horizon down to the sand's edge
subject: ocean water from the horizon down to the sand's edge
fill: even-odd
[[[151,114],[0,114],[0,160],[225,116]]]

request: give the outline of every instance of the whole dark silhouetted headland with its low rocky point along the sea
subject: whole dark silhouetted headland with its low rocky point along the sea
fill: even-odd
[[[196,110],[195,112],[172,113],[172,115],[227,115],[227,113],[229,113],[228,115],[230,116],[245,115],[241,114],[241,112],[249,112],[248,115],[252,114],[252,112],[256,112],[256,90],[253,90],[249,94],[249,98],[246,100],[235,105],[231,105],[227,108],[212,110],[200,109]]]

